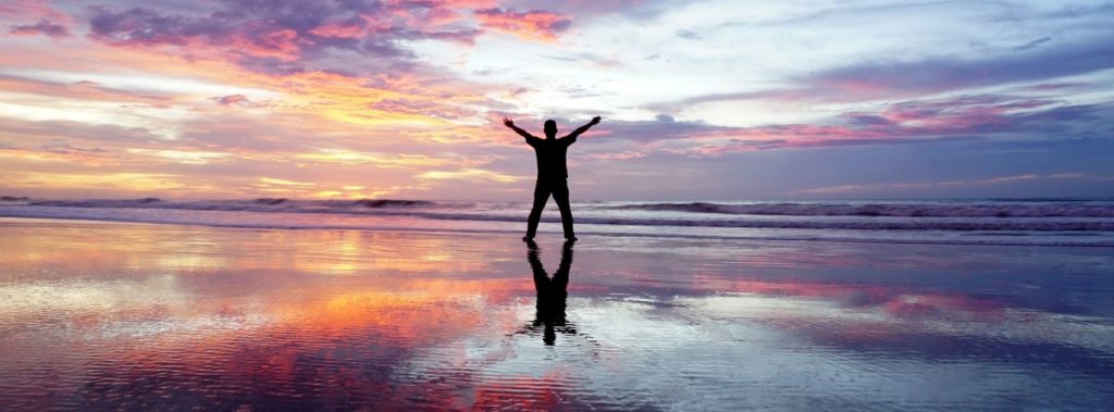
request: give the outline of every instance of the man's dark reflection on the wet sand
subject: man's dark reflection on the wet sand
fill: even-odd
[[[544,326],[541,341],[551,345],[557,341],[557,331],[576,334],[573,325],[565,324],[565,298],[568,297],[568,271],[573,266],[573,242],[565,242],[561,247],[560,267],[554,273],[553,278],[549,278],[546,268],[541,266],[538,245],[528,242],[527,247],[529,249],[526,259],[534,271],[534,288],[538,292],[538,311],[529,328],[536,331],[538,326]]]

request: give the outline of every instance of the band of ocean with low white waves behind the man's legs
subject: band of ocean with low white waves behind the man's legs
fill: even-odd
[[[517,233],[526,202],[7,198],[0,216],[224,227]],[[1114,199],[574,202],[579,236],[1114,246]],[[550,202],[540,233],[559,233]]]

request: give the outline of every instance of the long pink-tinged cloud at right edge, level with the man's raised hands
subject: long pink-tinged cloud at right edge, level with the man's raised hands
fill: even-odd
[[[762,149],[924,143],[969,138],[1104,138],[1114,106],[977,95],[909,100],[876,111],[844,111],[830,124],[716,128],[696,133],[688,153],[719,156]],[[684,151],[686,149],[682,149]]]

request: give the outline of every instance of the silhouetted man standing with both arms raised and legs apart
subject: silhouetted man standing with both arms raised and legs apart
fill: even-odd
[[[534,147],[534,153],[538,158],[538,180],[534,185],[534,207],[530,208],[530,217],[526,222],[526,236],[522,237],[522,241],[530,242],[537,234],[541,209],[546,207],[549,195],[554,196],[554,202],[560,209],[560,223],[565,227],[565,238],[576,241],[576,235],[573,233],[573,210],[568,207],[568,167],[565,165],[565,153],[569,145],[576,143],[577,136],[599,124],[599,116],[593,117],[592,121],[559,139],[557,138],[557,122],[553,120],[546,120],[545,139],[526,133],[506,117],[502,118],[502,124],[525,138],[526,143]]]

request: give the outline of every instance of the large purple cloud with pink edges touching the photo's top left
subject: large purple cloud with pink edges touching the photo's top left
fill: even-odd
[[[262,71],[297,71],[329,50],[408,60],[401,42],[432,39],[470,42],[479,31],[452,20],[409,26],[416,12],[440,14],[450,4],[283,0],[225,1],[223,8],[174,13],[147,7],[90,8],[90,37],[119,47],[178,47],[185,55],[217,52]],[[413,22],[413,21],[410,21]],[[283,65],[285,63],[285,65]]]

